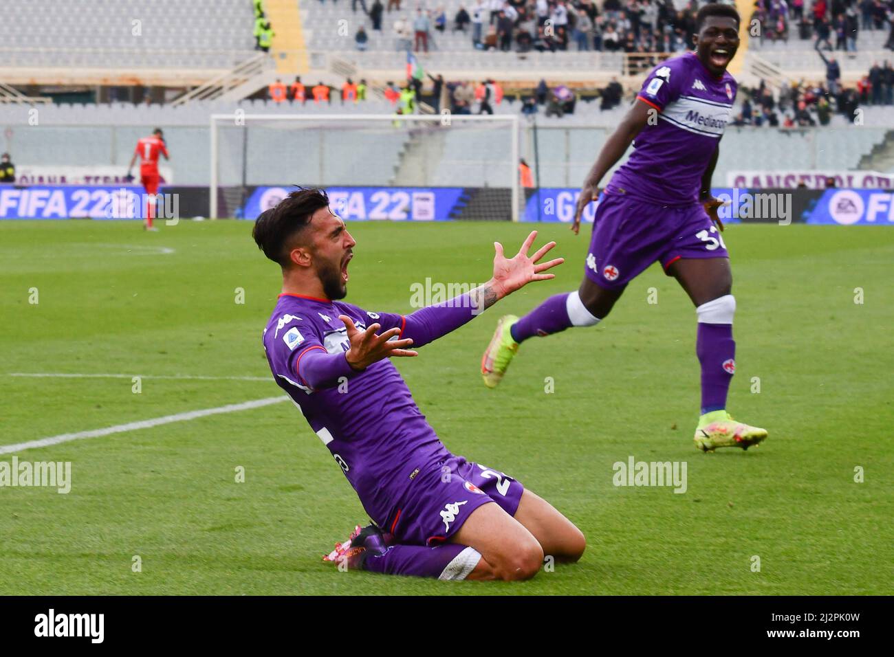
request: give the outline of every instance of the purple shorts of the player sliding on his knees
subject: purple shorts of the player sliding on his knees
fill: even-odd
[[[525,487],[499,470],[451,456],[420,471],[382,527],[405,545],[445,543],[482,504],[514,516]]]

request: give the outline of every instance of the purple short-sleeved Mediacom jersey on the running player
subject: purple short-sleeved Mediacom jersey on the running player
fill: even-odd
[[[662,204],[696,201],[702,175],[730,122],[737,88],[730,73],[714,78],[695,53],[656,66],[637,102],[652,105],[657,122],[637,135],[633,153],[611,184]]]

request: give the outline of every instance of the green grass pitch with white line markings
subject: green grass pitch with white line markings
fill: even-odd
[[[280,276],[250,229],[0,222],[0,445],[279,394],[270,380],[153,378],[269,377],[260,337]],[[413,283],[483,282],[493,240],[517,248],[530,229],[350,224],[347,300],[409,312]],[[713,455],[692,442],[696,316],[657,266],[599,326],[529,341],[498,390],[481,383],[497,317],[577,287],[584,233],[544,225],[538,243],[567,258],[554,281],[397,362],[451,451],[519,478],[584,531],[578,564],[520,584],[338,572],[321,555],[366,517],[286,402],[20,452],[71,461],[72,491],[0,488],[0,594],[894,593],[894,230],[724,233],[738,300],[730,411],[770,438]],[[687,492],[614,486],[612,464],[630,456],[686,461]]]

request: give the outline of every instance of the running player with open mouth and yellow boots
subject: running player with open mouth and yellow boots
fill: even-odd
[[[599,196],[603,176],[636,139],[636,149],[596,207],[583,282],[578,291],[547,299],[520,319],[500,319],[481,361],[488,387],[500,383],[523,341],[602,321],[628,282],[657,260],[696,306],[702,368],[696,447],[747,449],[767,437],[765,429],[736,422],[726,410],[736,370],[736,300],[729,254],[718,232],[721,201],[711,195],[711,176],[736,97],[736,80],[726,68],[738,49],[738,24],[733,6],[704,5],[696,16],[696,51],[649,73],[578,198],[575,234],[584,208]]]

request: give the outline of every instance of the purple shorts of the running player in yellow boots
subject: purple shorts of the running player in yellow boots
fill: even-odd
[[[632,198],[609,185],[596,207],[584,272],[621,290],[656,260],[664,273],[681,257],[730,257],[721,233],[697,202],[669,206]]]

